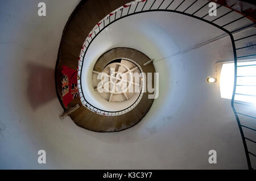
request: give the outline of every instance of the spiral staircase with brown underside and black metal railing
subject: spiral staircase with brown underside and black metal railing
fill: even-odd
[[[244,58],[251,58],[256,56],[256,52],[253,54],[249,54],[247,51],[245,51],[246,48],[254,47],[255,44],[244,46],[245,41],[255,40],[255,28],[252,31],[249,31],[250,34],[245,33],[244,36],[237,34],[237,32],[245,31],[248,28],[255,27],[255,20],[249,15],[242,14],[241,12],[232,9],[232,7],[221,4],[217,6],[218,12],[220,12],[217,14],[217,16],[207,16],[208,4],[210,2],[214,1],[81,1],[69,17],[68,22],[64,28],[55,69],[56,91],[64,110],[68,110],[68,108],[71,108],[76,104],[80,105],[80,108],[78,110],[69,114],[75,124],[79,125],[82,128],[96,132],[122,131],[124,129],[132,127],[133,125],[141,121],[143,116],[146,115],[148,110],[150,110],[150,107],[154,101],[154,99],[147,98],[148,92],[146,92],[145,94],[143,94],[142,99],[139,101],[137,106],[133,108],[133,110],[117,115],[108,115],[108,113],[106,113],[105,115],[105,112],[108,111],[105,111],[104,115],[99,114],[98,111],[100,110],[100,108],[95,108],[93,106],[93,103],[86,102],[86,98],[84,97],[81,86],[82,66],[83,63],[86,61],[84,57],[90,45],[92,44],[92,41],[96,39],[96,37],[102,31],[104,31],[105,28],[117,22],[119,19],[123,19],[127,16],[132,16],[135,14],[141,14],[144,12],[162,11],[190,16],[192,18],[201,20],[205,23],[219,28],[220,30],[225,32],[232,41],[235,64],[235,81],[231,104],[238,123],[238,128],[240,129],[248,167],[249,169],[252,169],[251,159],[255,159],[255,153],[251,152],[247,145],[251,145],[251,143],[255,144],[255,141],[249,137],[246,137],[243,132],[244,129],[250,129],[252,131],[255,131],[255,128],[251,127],[250,125],[242,125],[241,119],[246,119],[246,117],[250,117],[250,119],[256,119],[256,117],[247,113],[237,112],[237,104],[239,104],[239,106],[245,107],[251,105],[236,102],[234,101],[234,99],[237,94],[236,87],[240,86],[236,83],[237,77],[242,76],[237,75],[237,69],[239,69],[239,66],[237,66],[237,61]],[[110,61],[117,58],[127,58],[130,60],[134,60],[139,66],[141,66],[143,72],[146,73],[155,73],[157,71],[154,68],[154,61],[151,61],[150,64],[145,65],[146,62],[151,60],[150,57],[147,57],[146,54],[143,54],[138,50],[126,47],[117,47],[114,49],[110,49],[102,54],[102,56],[98,58],[97,62],[95,62],[93,70],[96,72],[102,71]],[[80,85],[80,98],[72,100],[72,102],[69,103],[68,107],[65,107],[61,100],[61,67],[63,65],[68,66],[72,69],[78,68],[79,74],[78,83]],[[84,101],[86,103],[84,103]]]

